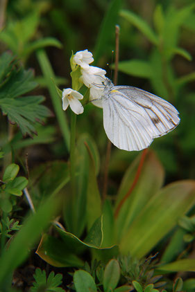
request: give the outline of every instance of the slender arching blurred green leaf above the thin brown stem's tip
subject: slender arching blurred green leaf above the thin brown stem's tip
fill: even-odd
[[[133,26],[139,29],[145,35],[145,37],[149,39],[149,41],[155,45],[158,45],[158,36],[155,34],[149,24],[144,21],[144,19],[130,10],[121,10],[120,16],[124,17],[124,19],[130,22],[130,24],[133,24]]]

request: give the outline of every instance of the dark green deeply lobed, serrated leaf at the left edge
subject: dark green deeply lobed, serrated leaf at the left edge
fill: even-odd
[[[7,66],[10,64],[8,63]],[[1,111],[8,116],[10,122],[17,123],[23,135],[31,136],[35,132],[33,123],[41,122],[51,114],[49,109],[40,104],[44,100],[42,96],[21,96],[34,89],[35,86],[37,83],[33,80],[33,71],[25,71],[22,68],[13,69],[6,82],[1,84]]]

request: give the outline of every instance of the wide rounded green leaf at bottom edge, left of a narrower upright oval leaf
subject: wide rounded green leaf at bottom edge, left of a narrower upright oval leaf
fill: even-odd
[[[93,277],[83,270],[76,271],[74,273],[73,280],[76,292],[97,291]]]

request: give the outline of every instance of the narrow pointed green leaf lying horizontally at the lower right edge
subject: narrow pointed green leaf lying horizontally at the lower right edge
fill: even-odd
[[[195,259],[180,259],[176,262],[164,264],[158,267],[158,271],[163,273],[195,272]]]

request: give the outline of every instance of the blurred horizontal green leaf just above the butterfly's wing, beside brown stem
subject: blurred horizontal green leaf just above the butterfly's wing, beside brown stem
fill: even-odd
[[[119,71],[128,75],[150,78],[153,75],[151,64],[142,60],[129,60],[119,62]]]

